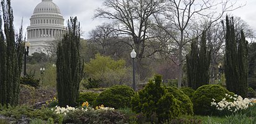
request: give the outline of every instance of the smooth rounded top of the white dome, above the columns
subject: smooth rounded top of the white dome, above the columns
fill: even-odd
[[[42,0],[34,9],[33,14],[37,13],[55,13],[61,14],[60,8],[52,0]]]

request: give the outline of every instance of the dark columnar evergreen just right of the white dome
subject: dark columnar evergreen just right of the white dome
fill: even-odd
[[[75,18],[68,20],[68,30],[57,48],[58,104],[75,106],[83,74],[80,59],[80,23]]]

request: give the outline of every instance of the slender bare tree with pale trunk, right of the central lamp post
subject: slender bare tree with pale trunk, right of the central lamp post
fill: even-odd
[[[191,42],[191,37],[194,35],[191,29],[198,29],[194,25],[201,19],[209,20],[209,27],[211,27],[211,24],[221,19],[225,12],[240,7],[234,7],[235,2],[234,0],[223,0],[221,2],[215,2],[214,0],[168,0],[162,15],[155,15],[158,26],[168,32],[168,35],[176,43],[177,64],[179,65],[178,87],[181,87],[183,77],[184,47],[186,43]],[[220,11],[217,12],[217,9],[220,9]]]

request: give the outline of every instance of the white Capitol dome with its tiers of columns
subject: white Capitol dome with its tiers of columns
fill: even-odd
[[[52,0],[42,0],[34,9],[27,27],[27,41],[30,43],[29,55],[48,52],[50,42],[65,33],[64,18],[60,8]]]

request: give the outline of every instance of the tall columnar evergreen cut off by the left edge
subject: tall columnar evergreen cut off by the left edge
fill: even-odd
[[[0,104],[17,105],[19,101],[19,84],[22,69],[24,44],[22,28],[15,35],[11,1],[1,1],[0,15]],[[4,30],[2,30],[2,24]],[[5,35],[5,36],[4,36]]]

